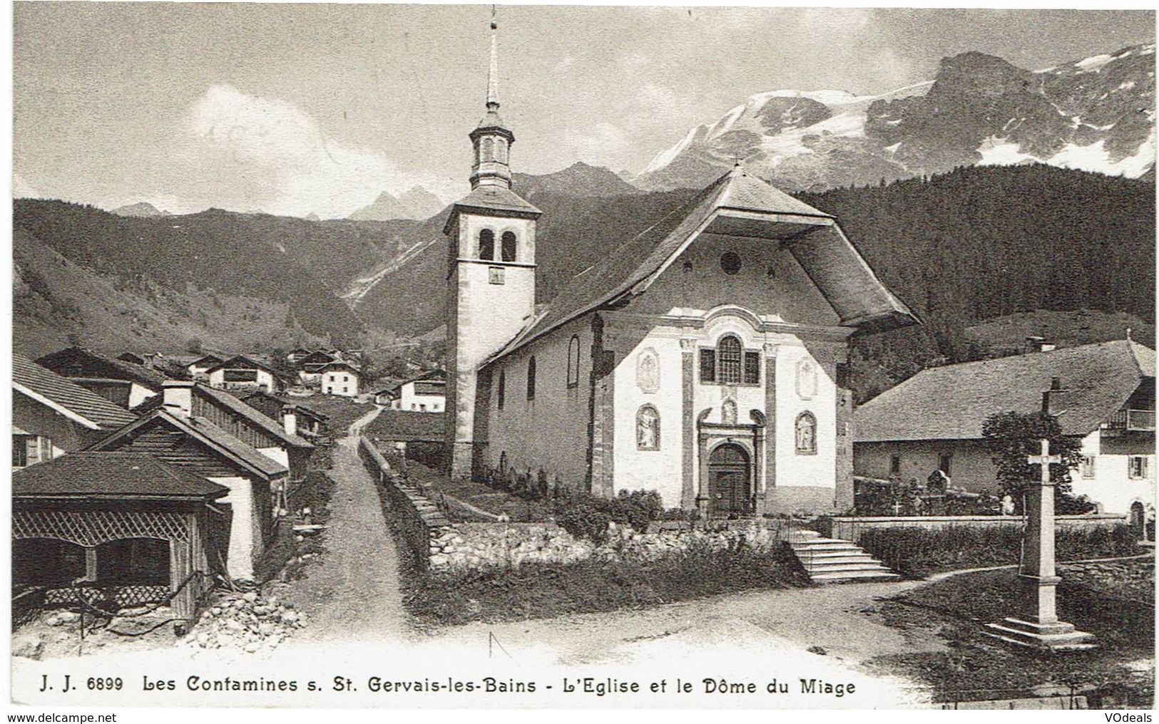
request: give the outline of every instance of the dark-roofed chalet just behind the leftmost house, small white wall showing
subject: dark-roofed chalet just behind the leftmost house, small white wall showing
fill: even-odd
[[[79,346],[45,354],[36,363],[125,409],[161,394],[166,380],[154,370]]]

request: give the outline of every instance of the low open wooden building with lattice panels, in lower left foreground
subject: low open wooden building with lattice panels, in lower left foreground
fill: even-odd
[[[223,572],[229,493],[143,452],[79,452],[17,470],[13,614],[168,604],[178,627]]]

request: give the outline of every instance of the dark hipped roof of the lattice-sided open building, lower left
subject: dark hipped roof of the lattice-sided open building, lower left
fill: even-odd
[[[228,495],[148,453],[79,452],[16,470],[14,498],[216,499]]]

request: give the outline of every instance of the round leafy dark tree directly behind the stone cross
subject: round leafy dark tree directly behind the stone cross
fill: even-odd
[[[1062,462],[1050,465],[1055,498],[1070,500],[1071,470],[1083,462],[1083,444],[1063,434],[1058,419],[1042,412],[997,412],[982,424],[982,437],[990,449],[1003,495],[1009,493],[1021,505],[1027,484],[1040,480],[1040,466],[1027,458],[1042,452],[1041,440],[1050,441],[1050,454]]]

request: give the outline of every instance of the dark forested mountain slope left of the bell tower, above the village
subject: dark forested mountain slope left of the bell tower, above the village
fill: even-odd
[[[283,305],[287,329],[351,342],[363,326],[337,291],[378,257],[398,254],[416,225],[220,210],[133,218],[37,199],[16,199],[13,217],[28,243],[42,243],[122,288],[155,285]]]

